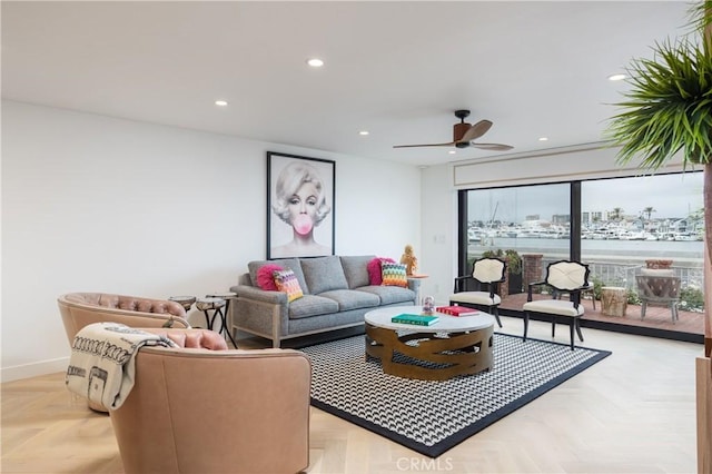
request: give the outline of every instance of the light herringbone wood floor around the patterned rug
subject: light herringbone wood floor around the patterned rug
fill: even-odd
[[[502,332],[521,334],[521,319],[502,319]],[[551,325],[532,322],[530,333],[551,339]],[[307,472],[694,473],[702,345],[586,328],[584,337],[613,355],[437,460],[312,408]],[[567,338],[558,326],[556,340]],[[2,384],[1,409],[2,473],[123,472],[108,416],[67,392],[63,374]]]

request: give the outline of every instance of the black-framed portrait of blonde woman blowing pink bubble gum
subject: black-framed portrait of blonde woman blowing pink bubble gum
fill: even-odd
[[[335,203],[336,161],[267,151],[267,259],[335,255]]]

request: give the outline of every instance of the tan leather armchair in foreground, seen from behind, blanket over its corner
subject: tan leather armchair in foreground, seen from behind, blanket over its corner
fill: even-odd
[[[310,381],[298,350],[142,347],[131,393],[109,413],[125,472],[301,472]]]

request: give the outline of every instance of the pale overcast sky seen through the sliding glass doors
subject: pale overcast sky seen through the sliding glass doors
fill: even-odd
[[[651,218],[682,218],[702,209],[702,172],[684,172],[624,179],[597,179],[582,184],[582,210],[611,211],[639,216],[655,209]],[[471,191],[468,220],[492,219],[522,223],[540,215],[551,220],[555,214],[568,215],[568,184],[524,186]]]

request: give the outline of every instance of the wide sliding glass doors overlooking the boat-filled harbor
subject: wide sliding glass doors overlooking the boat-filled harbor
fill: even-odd
[[[666,266],[682,282],[681,310],[703,307],[701,171],[459,191],[459,275],[486,255],[546,264],[589,264],[591,279],[625,287]],[[530,278],[532,275],[530,275]],[[534,275],[534,277],[537,277]],[[517,284],[508,294],[518,293]],[[600,294],[596,295],[600,297]]]

